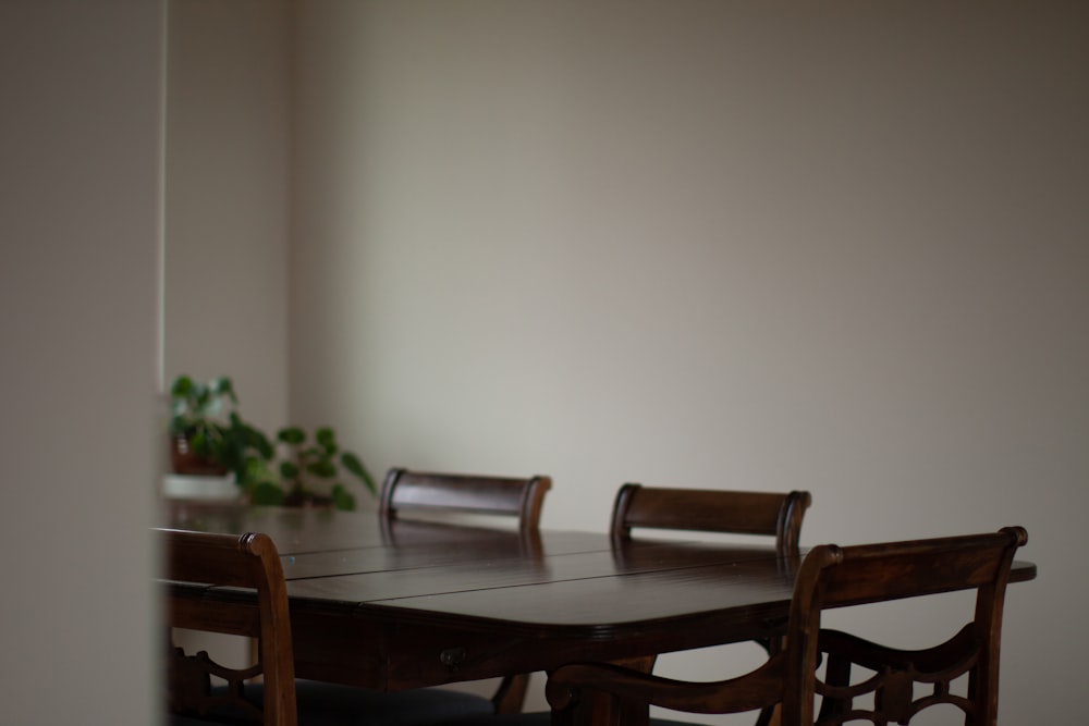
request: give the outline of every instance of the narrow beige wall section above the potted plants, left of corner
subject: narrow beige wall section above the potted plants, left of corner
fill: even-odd
[[[287,422],[290,5],[170,0],[164,367]]]

